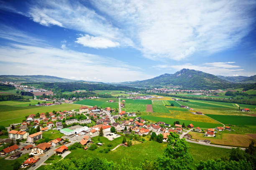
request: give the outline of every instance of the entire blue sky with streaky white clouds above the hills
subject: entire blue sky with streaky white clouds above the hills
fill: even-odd
[[[0,0],[0,75],[256,74],[255,0]]]

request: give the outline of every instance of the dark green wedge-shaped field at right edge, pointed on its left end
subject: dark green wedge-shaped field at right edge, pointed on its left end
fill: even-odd
[[[230,115],[207,115],[224,124],[232,125],[256,125],[256,117],[230,116]]]

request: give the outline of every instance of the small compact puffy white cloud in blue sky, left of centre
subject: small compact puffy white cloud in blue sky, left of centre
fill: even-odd
[[[118,47],[120,44],[118,42],[113,42],[104,37],[93,37],[88,34],[77,38],[77,43],[84,45],[85,47],[92,48],[108,48],[108,47]]]

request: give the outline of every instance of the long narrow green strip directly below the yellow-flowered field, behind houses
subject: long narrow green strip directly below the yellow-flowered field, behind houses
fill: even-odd
[[[148,115],[144,115],[141,116],[143,119],[146,120],[151,120],[154,122],[165,122],[168,124],[173,124],[174,121],[179,121],[180,123],[185,123],[185,125],[189,125],[190,123],[192,123],[194,125],[194,127],[199,126],[200,128],[215,128],[217,126],[221,126],[221,124],[217,124],[217,123],[207,123],[207,122],[196,122],[196,121],[191,121],[191,120],[181,120],[181,119],[173,119],[173,118],[169,118],[169,117],[156,117],[156,116],[148,116]]]

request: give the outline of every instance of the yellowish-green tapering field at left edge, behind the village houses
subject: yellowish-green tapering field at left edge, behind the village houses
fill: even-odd
[[[53,105],[53,106],[41,106],[41,107],[26,107],[25,109],[20,109],[20,110],[13,110],[15,106],[9,106],[10,109],[8,109],[7,105],[3,105],[3,107],[8,110],[8,111],[3,111],[2,106],[0,105],[0,124],[8,127],[9,124],[12,123],[18,123],[21,122],[23,119],[25,119],[25,116],[28,116],[30,114],[36,114],[37,112],[52,112],[53,110],[55,111],[64,111],[64,110],[72,110],[72,109],[78,109],[80,106],[79,105],[74,105],[74,104],[67,104],[63,103],[61,105]],[[19,107],[20,108],[20,107]]]

